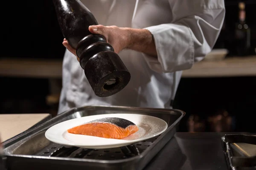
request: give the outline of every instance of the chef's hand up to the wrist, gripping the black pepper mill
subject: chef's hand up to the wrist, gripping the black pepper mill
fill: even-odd
[[[114,48],[115,53],[119,53],[128,47],[129,31],[127,28],[119,28],[117,26],[90,26],[89,31],[92,34],[100,34],[104,36],[109,44]],[[71,53],[76,55],[76,49],[72,48],[66,39],[62,43]],[[77,55],[76,55],[77,57]],[[79,58],[77,57],[79,61]]]

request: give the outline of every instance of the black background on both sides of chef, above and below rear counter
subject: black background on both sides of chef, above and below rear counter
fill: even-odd
[[[227,48],[229,56],[235,55],[233,35],[238,20],[238,2],[226,0],[224,28],[214,47]],[[244,2],[247,23],[251,28],[251,45],[255,48],[256,0]],[[1,6],[3,45],[0,57],[63,58],[63,36],[52,0],[4,1]],[[48,112],[49,106],[45,102],[48,86],[48,79],[0,77],[0,113]],[[256,132],[253,119],[256,113],[255,88],[255,77],[182,78],[174,103],[174,108],[187,113],[180,131],[191,131],[190,120],[197,125],[194,131]],[[221,129],[216,129],[216,126]]]

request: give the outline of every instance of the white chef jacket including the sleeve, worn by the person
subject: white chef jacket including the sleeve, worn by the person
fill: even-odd
[[[104,26],[146,28],[157,57],[124,50],[119,57],[131,73],[122,91],[94,94],[76,57],[66,50],[58,114],[85,105],[170,108],[182,70],[209,53],[220,33],[224,0],[81,0]],[[190,88],[189,86],[187,88]]]

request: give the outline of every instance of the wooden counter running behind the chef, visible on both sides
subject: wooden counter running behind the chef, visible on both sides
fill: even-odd
[[[256,56],[203,60],[183,71],[182,77],[256,76],[255,65]],[[61,79],[62,59],[0,58],[0,76]]]

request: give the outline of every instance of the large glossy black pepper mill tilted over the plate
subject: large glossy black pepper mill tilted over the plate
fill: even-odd
[[[131,75],[104,36],[91,34],[96,18],[79,0],[53,0],[63,36],[76,49],[96,96],[107,97],[121,91]]]

